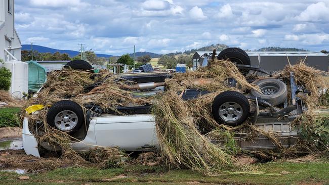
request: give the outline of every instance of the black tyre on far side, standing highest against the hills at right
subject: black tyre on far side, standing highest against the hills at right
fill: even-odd
[[[239,48],[227,48],[223,50],[218,56],[218,60],[230,60],[235,64],[250,65],[250,58],[243,50]]]

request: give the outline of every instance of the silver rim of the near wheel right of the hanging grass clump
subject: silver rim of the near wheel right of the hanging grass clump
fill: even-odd
[[[225,102],[219,107],[219,116],[226,122],[234,122],[242,117],[243,111],[235,102]]]

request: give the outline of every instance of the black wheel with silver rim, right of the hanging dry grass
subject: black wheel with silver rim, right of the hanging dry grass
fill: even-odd
[[[219,124],[237,126],[242,124],[249,115],[248,99],[237,91],[225,91],[213,101],[212,114]]]

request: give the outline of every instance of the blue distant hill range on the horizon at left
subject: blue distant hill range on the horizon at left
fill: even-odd
[[[22,50],[31,50],[31,45],[30,44],[22,44]],[[57,49],[43,47],[41,45],[33,45],[33,50],[36,50],[39,53],[52,53],[52,54],[56,53],[56,52],[59,52],[60,54],[67,53],[70,57],[75,57],[78,54],[80,54],[80,52],[77,52],[77,51],[57,50]],[[96,54],[96,55],[97,55],[97,57],[105,57],[105,58],[112,57],[112,55],[106,55],[106,54]]]

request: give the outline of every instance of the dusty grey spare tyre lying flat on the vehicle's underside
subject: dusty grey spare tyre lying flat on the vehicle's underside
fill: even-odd
[[[255,83],[262,93],[257,90],[251,90],[251,95],[263,99],[274,106],[282,104],[287,98],[286,85],[277,79],[264,79]]]

